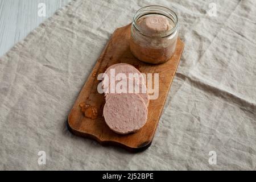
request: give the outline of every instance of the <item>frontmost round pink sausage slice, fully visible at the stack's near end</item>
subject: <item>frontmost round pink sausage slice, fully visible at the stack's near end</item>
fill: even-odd
[[[110,94],[103,115],[115,133],[134,133],[147,122],[147,106],[138,94]]]

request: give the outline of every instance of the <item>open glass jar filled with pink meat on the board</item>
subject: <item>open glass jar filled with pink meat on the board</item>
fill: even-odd
[[[134,15],[130,49],[141,61],[164,63],[174,55],[177,36],[178,19],[174,11],[163,6],[145,6]]]

